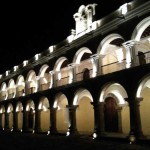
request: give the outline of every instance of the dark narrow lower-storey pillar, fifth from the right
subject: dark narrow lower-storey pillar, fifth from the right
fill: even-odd
[[[34,130],[36,133],[42,132],[42,130],[41,130],[41,111],[42,110],[37,109],[35,112],[35,128],[34,128]]]

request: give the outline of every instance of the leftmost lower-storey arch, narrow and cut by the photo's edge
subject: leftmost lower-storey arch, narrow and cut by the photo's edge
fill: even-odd
[[[0,128],[3,130],[5,128],[5,107],[4,107],[4,105],[0,106]]]

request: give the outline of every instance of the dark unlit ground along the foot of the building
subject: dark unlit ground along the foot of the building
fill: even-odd
[[[150,150],[150,142],[129,144],[127,140],[87,136],[52,136],[27,133],[0,133],[0,150]]]

